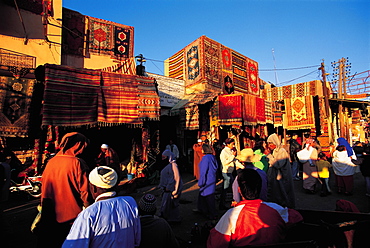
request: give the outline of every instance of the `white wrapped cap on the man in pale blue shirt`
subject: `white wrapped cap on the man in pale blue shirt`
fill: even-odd
[[[117,172],[108,166],[96,167],[89,174],[90,183],[103,189],[112,188],[116,185],[117,180]]]

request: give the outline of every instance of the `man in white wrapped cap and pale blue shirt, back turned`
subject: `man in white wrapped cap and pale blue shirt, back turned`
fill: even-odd
[[[62,247],[139,246],[139,211],[132,197],[116,196],[117,173],[99,166],[90,172],[89,181],[95,203],[78,215]]]

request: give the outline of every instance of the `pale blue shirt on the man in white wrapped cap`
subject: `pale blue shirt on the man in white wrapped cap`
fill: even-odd
[[[95,202],[83,210],[63,243],[67,247],[139,246],[141,226],[138,208],[130,196]]]

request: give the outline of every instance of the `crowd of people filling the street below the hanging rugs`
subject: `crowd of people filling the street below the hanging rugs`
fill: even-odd
[[[334,173],[337,192],[352,195],[353,175],[361,171],[370,196],[370,147],[360,142],[351,147],[339,138],[329,155],[317,140],[306,137],[302,142],[296,134],[290,136],[288,146],[275,133],[244,145],[241,151],[235,143],[233,138],[222,146],[198,139],[193,146],[193,175],[199,186],[194,211],[215,223],[207,238],[209,248],[282,242],[289,228],[303,220],[294,210],[294,180],[303,180],[308,194],[319,191],[326,196],[332,192],[329,178]],[[160,172],[157,211],[153,194],[139,201],[118,194],[122,171],[107,144],[101,146],[91,170],[79,157],[88,145],[83,134],[66,134],[45,167],[41,218],[34,229],[37,247],[180,247],[170,225],[182,221],[177,146],[171,141],[162,152],[166,165]],[[218,182],[222,182],[219,199]],[[222,216],[216,200],[218,209],[226,210]]]

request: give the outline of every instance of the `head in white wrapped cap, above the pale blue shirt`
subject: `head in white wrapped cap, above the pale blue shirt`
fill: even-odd
[[[95,167],[89,174],[90,192],[94,199],[100,194],[113,191],[117,185],[117,172],[108,166]]]

